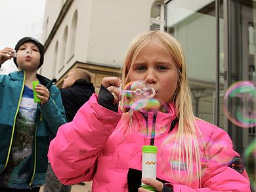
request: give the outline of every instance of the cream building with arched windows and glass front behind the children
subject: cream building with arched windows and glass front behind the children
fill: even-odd
[[[232,83],[256,81],[256,1],[47,0],[44,22],[40,73],[61,86],[70,69],[81,67],[94,74],[96,91],[103,77],[119,75],[134,37],[169,31],[185,52],[196,116],[226,130],[241,154],[255,142],[255,126],[231,123],[223,102]]]

